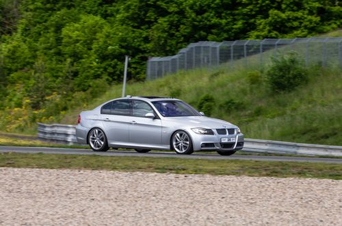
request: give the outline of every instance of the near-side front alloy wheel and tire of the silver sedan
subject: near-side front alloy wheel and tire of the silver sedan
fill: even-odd
[[[178,130],[171,138],[171,147],[177,154],[190,155],[194,152],[192,139],[186,131]]]

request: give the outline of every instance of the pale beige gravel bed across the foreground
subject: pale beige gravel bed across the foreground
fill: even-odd
[[[0,225],[342,225],[342,181],[0,168]]]

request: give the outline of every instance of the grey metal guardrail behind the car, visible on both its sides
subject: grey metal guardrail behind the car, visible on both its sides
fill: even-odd
[[[38,138],[66,144],[77,144],[75,125],[38,123]],[[274,140],[245,139],[242,151],[291,155],[342,156],[341,146],[311,145]]]

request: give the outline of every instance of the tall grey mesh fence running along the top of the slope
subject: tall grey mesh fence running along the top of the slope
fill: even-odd
[[[236,40],[229,42],[196,42],[181,49],[177,55],[150,58],[146,79],[152,80],[179,70],[219,66],[260,66],[272,56],[296,51],[306,66],[339,66],[342,69],[342,38],[293,38]]]

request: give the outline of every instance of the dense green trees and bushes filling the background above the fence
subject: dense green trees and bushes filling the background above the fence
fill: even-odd
[[[25,129],[98,96],[121,81],[124,55],[140,81],[148,56],[189,42],[304,37],[341,24],[337,0],[0,0],[0,121]]]

